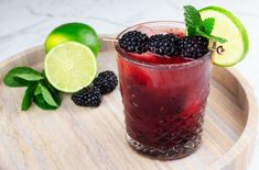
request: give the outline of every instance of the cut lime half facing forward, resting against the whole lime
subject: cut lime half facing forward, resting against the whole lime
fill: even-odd
[[[76,92],[89,86],[97,72],[94,53],[75,42],[57,45],[50,50],[44,68],[50,83],[63,92]]]

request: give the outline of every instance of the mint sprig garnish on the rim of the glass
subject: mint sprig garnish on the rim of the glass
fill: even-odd
[[[199,12],[192,5],[184,7],[184,18],[187,30],[187,36],[201,35],[215,42],[227,42],[227,39],[223,37],[212,35],[215,24],[214,18],[207,18],[205,20],[202,20]]]

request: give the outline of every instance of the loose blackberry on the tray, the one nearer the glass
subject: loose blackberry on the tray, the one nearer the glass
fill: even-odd
[[[118,84],[118,78],[112,71],[104,71],[94,80],[94,86],[100,89],[101,94],[107,94],[115,90]]]

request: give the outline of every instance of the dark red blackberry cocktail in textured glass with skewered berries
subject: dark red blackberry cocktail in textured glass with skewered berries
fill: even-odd
[[[139,24],[118,38],[117,64],[129,144],[159,159],[192,154],[201,144],[209,92],[208,39],[186,37],[180,22]]]

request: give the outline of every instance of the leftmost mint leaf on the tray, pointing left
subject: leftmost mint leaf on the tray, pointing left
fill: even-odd
[[[43,77],[34,69],[29,67],[15,67],[3,78],[3,82],[9,87],[25,87],[30,81],[37,81]]]

